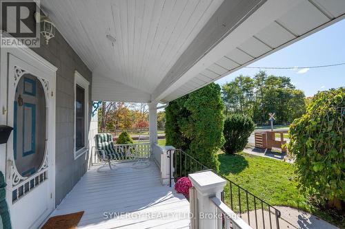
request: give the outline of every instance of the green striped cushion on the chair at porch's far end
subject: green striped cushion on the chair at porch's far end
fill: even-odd
[[[96,147],[100,156],[103,156],[102,151],[104,151],[107,160],[120,160],[125,157],[125,153],[123,151],[116,150],[110,133],[97,134]]]

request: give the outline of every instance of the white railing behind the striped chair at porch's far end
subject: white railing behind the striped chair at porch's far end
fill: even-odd
[[[135,144],[115,144],[115,151],[119,153],[130,152],[130,155],[121,157],[119,162],[135,160],[137,158],[149,159],[150,158],[150,143],[135,143]],[[97,155],[95,147],[91,151],[91,164],[100,164],[101,161]]]

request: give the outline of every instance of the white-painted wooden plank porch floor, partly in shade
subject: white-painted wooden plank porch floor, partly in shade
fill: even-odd
[[[189,228],[189,202],[161,186],[154,162],[148,168],[132,168],[132,162],[117,166],[112,173],[92,166],[52,216],[83,210],[78,228]]]

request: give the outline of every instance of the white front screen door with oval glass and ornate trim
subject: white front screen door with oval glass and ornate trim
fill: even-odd
[[[55,74],[18,54],[7,56],[6,199],[13,228],[38,228],[55,205]]]

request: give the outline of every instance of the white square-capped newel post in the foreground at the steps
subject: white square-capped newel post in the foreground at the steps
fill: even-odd
[[[197,212],[191,212],[197,217],[199,229],[219,229],[221,228],[221,219],[217,219],[219,211],[217,207],[210,200],[210,197],[218,197],[221,199],[221,192],[224,190],[226,180],[219,177],[219,175],[212,171],[205,171],[201,173],[190,174],[191,180],[197,197],[197,209],[192,208]]]

